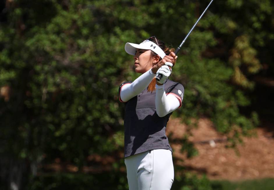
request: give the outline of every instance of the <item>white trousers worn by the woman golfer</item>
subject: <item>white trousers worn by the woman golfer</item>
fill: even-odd
[[[172,154],[155,149],[125,158],[129,190],[170,190],[174,181]]]

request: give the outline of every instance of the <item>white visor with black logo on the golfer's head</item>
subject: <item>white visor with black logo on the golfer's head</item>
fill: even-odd
[[[164,58],[166,56],[165,52],[157,44],[149,40],[144,40],[140,44],[125,44],[125,52],[127,52],[130,55],[135,55],[136,49],[150,49],[151,51],[158,54],[161,58]]]

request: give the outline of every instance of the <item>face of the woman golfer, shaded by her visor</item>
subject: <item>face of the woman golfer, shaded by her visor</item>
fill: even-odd
[[[135,52],[135,72],[145,73],[152,68],[151,50],[137,49]]]

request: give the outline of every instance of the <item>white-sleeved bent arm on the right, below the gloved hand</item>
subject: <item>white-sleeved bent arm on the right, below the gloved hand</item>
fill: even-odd
[[[156,113],[159,117],[164,117],[168,113],[175,111],[177,108],[181,107],[182,100],[178,95],[173,93],[166,94],[164,90],[164,85],[156,84],[156,97],[155,106]]]

